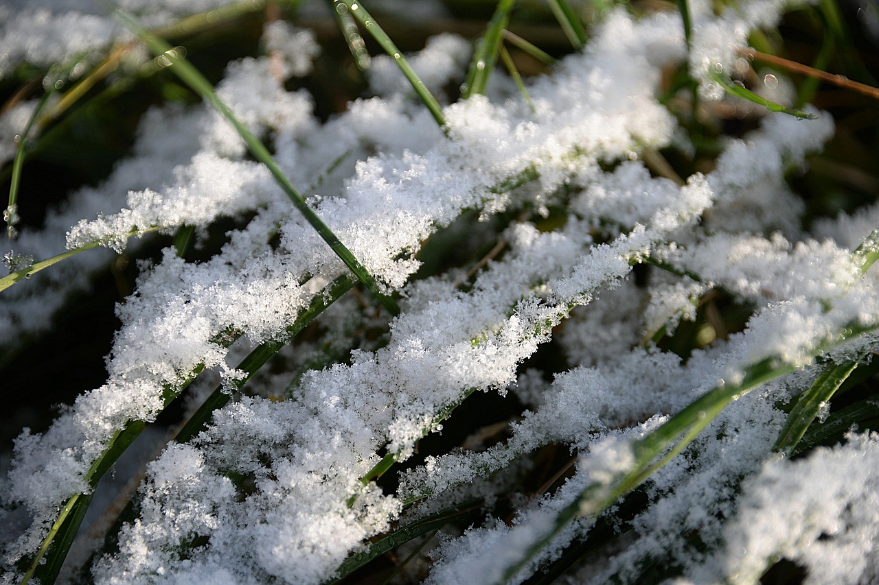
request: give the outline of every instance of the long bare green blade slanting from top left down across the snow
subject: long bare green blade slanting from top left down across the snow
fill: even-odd
[[[116,14],[119,16],[120,20],[127,25],[129,29],[131,29],[137,36],[149,47],[149,49],[158,55],[164,55],[168,61],[171,61],[171,71],[173,71],[184,83],[189,85],[194,91],[200,94],[202,98],[204,98],[209,104],[213,105],[214,108],[218,112],[222,114],[224,118],[229,120],[229,123],[232,126],[235,126],[236,131],[242,137],[244,143],[247,145],[247,148],[250,149],[251,154],[259,161],[265,164],[266,168],[272,173],[272,177],[274,177],[275,181],[280,185],[281,189],[287,194],[287,197],[293,201],[294,206],[299,212],[305,217],[305,220],[309,222],[311,227],[314,227],[317,234],[321,236],[324,242],[331,247],[331,249],[336,253],[342,262],[345,263],[345,266],[351,270],[354,275],[367,286],[369,291],[375,295],[376,298],[381,300],[381,304],[384,305],[385,308],[388,309],[390,314],[399,314],[400,308],[397,307],[396,302],[381,293],[378,288],[378,283],[376,283],[375,278],[372,274],[367,271],[366,268],[360,264],[360,261],[351,253],[351,250],[345,247],[339,239],[338,236],[335,235],[330,227],[328,227],[323,220],[321,220],[320,216],[315,213],[315,211],[309,207],[309,205],[305,202],[305,199],[301,196],[299,191],[296,191],[293,184],[290,183],[290,180],[284,175],[283,171],[280,170],[280,167],[274,159],[272,155],[269,153],[268,148],[265,148],[265,145],[258,140],[256,136],[251,134],[251,131],[248,130],[241,123],[239,119],[237,119],[235,113],[229,109],[229,106],[224,104],[222,99],[216,95],[214,92],[213,86],[202,76],[198,69],[195,69],[193,65],[186,61],[184,58],[180,57],[177,52],[163,40],[156,37],[156,35],[144,29],[141,25],[139,25],[134,18],[128,15],[124,11],[117,11]]]

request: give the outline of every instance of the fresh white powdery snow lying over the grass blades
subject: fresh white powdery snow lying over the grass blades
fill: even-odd
[[[94,4],[0,6],[0,75],[24,61],[99,53],[126,34]],[[120,4],[159,26],[231,3]],[[121,527],[118,551],[93,560],[90,580],[321,583],[384,532],[462,502],[478,500],[488,513],[505,497],[512,516],[440,534],[426,579],[525,581],[590,537],[601,511],[590,502],[642,465],[636,445],[766,363],[787,374],[750,394],[743,387],[638,488],[634,517],[601,519],[611,526],[602,530],[626,535],[563,582],[637,582],[657,558],[678,567],[671,576],[679,582],[755,582],[780,558],[803,567],[809,582],[879,579],[879,439],[852,432],[803,459],[774,454],[787,417],[777,405],[808,388],[824,364],[875,342],[879,281],[862,273],[852,250],[879,212],[803,229],[803,206],[784,176],[832,137],[832,119],[815,109],[809,121],[766,113],[758,129],[723,142],[704,174],[651,173],[645,151],[691,146],[657,96],[663,70],[688,67],[701,97],[722,98],[716,76],[736,67],[748,33],[776,25],[787,3],[744,0],[720,14],[707,0],[688,4],[689,53],[678,12],[635,18],[613,9],[581,51],[527,82],[529,101],[490,88],[448,103],[445,90],[461,83],[472,46],[451,34],[428,40],[410,63],[439,96],[443,129],[387,56],[368,73],[374,97],[320,121],[309,92],[285,86],[311,71],[314,33],[266,25],[265,55],[229,63],[217,94],[271,143],[308,205],[402,311],[352,325],[345,314],[359,306],[339,301],[345,310],[331,307],[321,321],[327,341],[281,350],[295,376],[265,372],[243,393],[234,391],[247,377],[236,369],[246,352],[289,341],[288,328],[347,269],[219,113],[151,109],[132,155],[104,183],[50,209],[41,230],[23,229],[8,262],[61,253],[65,233],[69,249],[98,243],[120,252],[136,247],[135,235],[207,230],[229,217],[246,223],[200,263],[166,249],[142,264],[134,293],[117,307],[105,385],[62,409],[45,432],[18,437],[0,481],[0,524],[16,527],[0,535],[3,582],[21,579],[19,560],[33,559],[65,502],[91,493],[91,467],[114,435],[130,421],[154,421],[168,393],[202,369],[235,395],[197,437],[171,442],[149,463],[139,516]],[[23,131],[34,107],[0,115],[4,138]],[[11,159],[2,144],[0,159]],[[551,215],[559,206],[563,221]],[[499,216],[509,224],[501,252],[480,270],[412,278],[432,236],[491,244],[495,235],[484,234]],[[461,248],[469,245],[477,248]],[[112,258],[85,251],[4,291],[0,346],[50,328],[54,307]],[[649,285],[637,285],[633,267],[647,261],[669,271],[651,269]],[[651,342],[694,321],[715,288],[749,308],[744,330],[711,338],[686,359]],[[351,339],[367,326],[386,333],[355,349]],[[545,379],[520,367],[551,339],[563,371]],[[197,387],[203,397],[207,386]],[[392,488],[369,480],[382,460],[410,459],[452,408],[483,392],[527,407],[504,440],[413,459]],[[573,458],[561,487],[510,495],[509,474],[550,444]]]

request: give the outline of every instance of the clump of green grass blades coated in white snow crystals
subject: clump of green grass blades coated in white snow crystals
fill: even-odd
[[[483,7],[484,26],[467,11],[451,21],[466,41],[425,47],[428,20],[367,4],[235,5],[153,30],[140,21],[149,15],[117,11],[135,38],[53,65],[47,79],[80,81],[34,92],[5,170],[11,238],[19,207],[38,197],[27,169],[69,140],[65,124],[100,127],[77,119],[89,104],[121,109],[151,87],[143,105],[179,104],[148,116],[197,140],[179,136],[168,148],[178,158],[163,158],[144,126],[133,162],[105,183],[142,189],[116,193],[119,213],[94,213],[84,189],[70,198],[74,215],[49,212],[42,230],[25,217],[23,253],[6,257],[4,318],[22,332],[5,342],[10,372],[33,370],[27,343],[45,353],[62,335],[39,333],[30,291],[63,302],[85,272],[106,270],[84,259],[99,247],[116,265],[144,260],[136,277],[114,272],[136,280],[120,285],[133,292],[120,299],[107,383],[15,446],[2,503],[22,528],[4,541],[4,568],[21,583],[75,571],[81,581],[199,571],[265,582],[710,581],[759,579],[787,554],[816,580],[836,570],[810,559],[808,538],[789,544],[808,532],[793,521],[738,554],[752,549],[745,519],[759,502],[792,516],[811,505],[810,494],[773,491],[778,466],[805,476],[824,465],[839,509],[861,511],[850,485],[875,486],[851,458],[879,458],[879,439],[845,434],[879,420],[869,359],[879,213],[872,199],[852,203],[876,182],[875,137],[857,126],[875,120],[875,103],[836,116],[844,131],[809,181],[794,173],[832,136],[835,113],[796,100],[832,110],[830,91],[875,98],[867,78],[815,90],[831,66],[866,71],[836,9],[761,31],[777,23],[746,7],[501,0]],[[599,22],[587,25],[591,13]],[[845,62],[824,51],[791,66],[781,31],[815,34],[810,18],[832,22]],[[327,22],[345,42],[322,32]],[[206,76],[207,61],[183,47],[210,47],[223,23],[265,25],[266,54]],[[724,25],[752,30],[762,53],[695,33]],[[316,54],[316,38],[336,44],[294,65]],[[139,43],[155,67],[136,61]],[[126,55],[135,60],[114,73]],[[773,93],[748,55],[805,77]],[[370,63],[382,59],[410,90],[372,97],[383,74]],[[360,82],[339,81],[346,69]],[[21,71],[7,78],[19,83]],[[706,99],[717,84],[728,97]],[[4,109],[27,97],[11,93]],[[314,99],[344,105],[318,120]],[[855,162],[834,158],[853,148]],[[813,182],[831,194],[803,185]],[[39,259],[65,221],[69,249]],[[147,238],[140,250],[134,236]],[[138,494],[107,520],[103,545],[77,543],[99,480],[144,451],[150,425],[172,432]],[[879,524],[858,512],[848,530],[869,542]],[[76,546],[82,567],[70,568]]]

